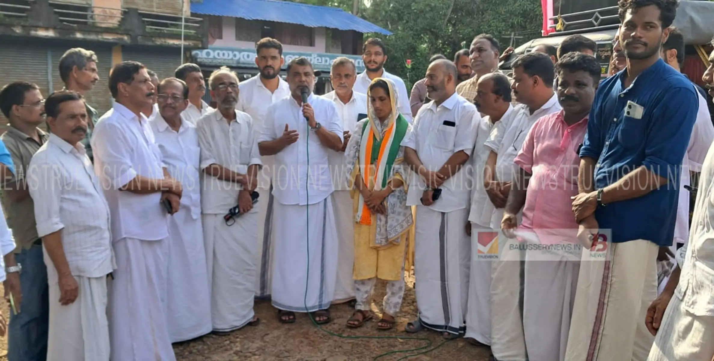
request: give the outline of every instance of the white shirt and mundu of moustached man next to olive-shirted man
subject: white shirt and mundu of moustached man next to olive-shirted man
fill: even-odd
[[[79,295],[61,305],[59,277],[46,250],[49,285],[47,360],[109,360],[106,275],[114,270],[109,204],[84,146],[55,134],[35,153],[28,169],[35,199],[37,234],[60,231],[62,249]]]

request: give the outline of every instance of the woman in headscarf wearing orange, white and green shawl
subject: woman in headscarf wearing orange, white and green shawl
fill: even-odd
[[[371,320],[370,300],[377,279],[387,281],[379,330],[394,327],[404,295],[404,259],[411,207],[406,205],[406,163],[401,143],[411,127],[397,112],[397,92],[389,79],[376,78],[367,91],[366,119],[348,142],[346,157],[355,214],[355,312],[347,327]]]

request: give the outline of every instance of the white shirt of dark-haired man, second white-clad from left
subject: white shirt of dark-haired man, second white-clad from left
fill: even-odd
[[[161,205],[161,192],[136,194],[119,190],[137,175],[164,179],[161,150],[149,120],[114,102],[97,122],[91,147],[94,170],[109,202],[112,240],[155,241],[168,237],[169,214]]]

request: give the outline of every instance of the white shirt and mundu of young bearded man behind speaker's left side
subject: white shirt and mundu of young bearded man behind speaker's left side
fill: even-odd
[[[278,76],[278,89],[271,92],[263,85],[261,76],[256,75],[246,81],[241,81],[240,94],[236,109],[246,112],[253,118],[253,129],[261,132],[266,112],[271,104],[290,96],[290,86]],[[271,179],[273,178],[273,167],[275,167],[275,157],[261,156],[263,168],[258,175],[258,194],[260,201],[258,207],[258,252],[256,253],[256,297],[269,297],[271,292],[271,280],[273,279],[273,194],[270,190]]]

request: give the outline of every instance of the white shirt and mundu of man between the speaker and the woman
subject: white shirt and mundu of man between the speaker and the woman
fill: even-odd
[[[367,96],[352,92],[352,98],[346,104],[332,91],[323,95],[335,103],[337,114],[342,121],[342,129],[352,132],[358,120],[367,117]],[[347,159],[344,152],[328,151],[330,153],[330,171],[335,192],[332,194],[335,222],[339,237],[339,255],[337,269],[337,285],[335,285],[335,301],[341,302],[355,297],[354,279],[354,215],[352,197],[347,186]]]

